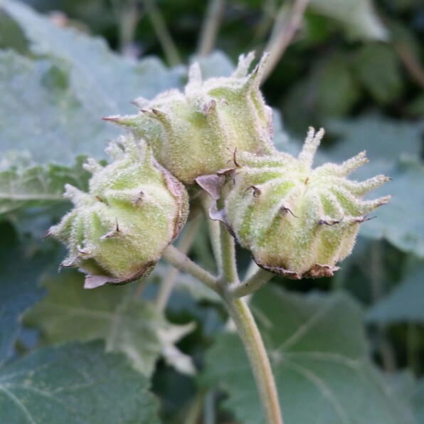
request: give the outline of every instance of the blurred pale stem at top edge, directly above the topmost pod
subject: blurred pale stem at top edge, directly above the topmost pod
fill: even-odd
[[[223,16],[225,0],[209,0],[208,10],[201,28],[198,42],[198,55],[206,56],[213,51],[216,34]]]

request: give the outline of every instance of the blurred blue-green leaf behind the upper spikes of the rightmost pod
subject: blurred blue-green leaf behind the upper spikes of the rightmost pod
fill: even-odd
[[[374,114],[354,120],[329,120],[327,132],[341,138],[329,155],[344,161],[366,150],[371,163],[375,159],[397,161],[401,154],[419,156],[423,128],[424,121],[392,120]]]

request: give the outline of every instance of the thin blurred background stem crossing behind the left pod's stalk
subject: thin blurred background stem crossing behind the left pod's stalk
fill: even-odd
[[[181,234],[181,237],[177,243],[178,250],[181,253],[184,253],[184,255],[189,252],[189,249],[193,244],[194,237],[196,236],[200,223],[200,216],[196,216],[193,221],[190,221],[186,224],[186,227],[184,228],[184,233]],[[178,275],[179,270],[176,267],[169,266],[169,270],[168,272],[166,272],[166,277],[164,277],[164,280],[161,281],[159,293],[155,301],[156,307],[159,311],[164,311]]]

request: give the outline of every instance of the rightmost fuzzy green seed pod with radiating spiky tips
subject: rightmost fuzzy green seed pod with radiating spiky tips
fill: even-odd
[[[297,159],[281,152],[238,155],[234,186],[221,213],[260,267],[293,279],[332,276],[336,263],[351,253],[359,225],[390,198],[363,199],[387,176],[363,182],[346,178],[367,161],[365,152],[341,165],[312,169],[323,134],[310,128]]]

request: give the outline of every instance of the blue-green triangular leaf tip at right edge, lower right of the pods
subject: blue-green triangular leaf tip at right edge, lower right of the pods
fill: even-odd
[[[368,322],[424,322],[424,264],[377,302],[366,315]]]

